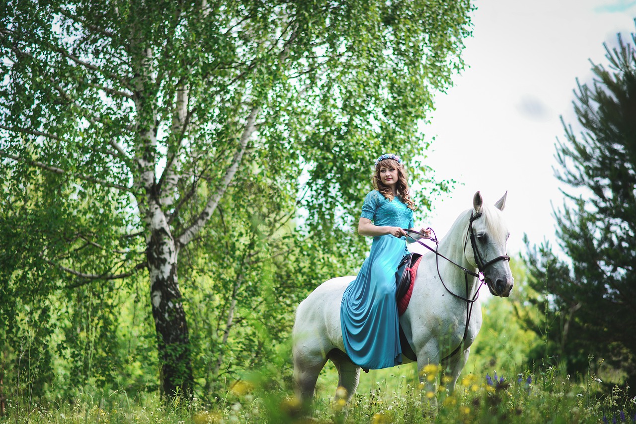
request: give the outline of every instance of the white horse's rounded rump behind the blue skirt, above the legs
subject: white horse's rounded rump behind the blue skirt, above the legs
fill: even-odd
[[[342,294],[355,276],[336,277],[317,286],[296,309],[293,337],[294,344],[308,341],[320,341],[340,348],[342,332],[340,330],[340,302]]]

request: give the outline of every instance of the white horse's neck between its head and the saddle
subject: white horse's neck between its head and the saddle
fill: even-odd
[[[446,286],[450,289],[453,286],[453,293],[466,295],[466,277],[468,281],[468,295],[472,297],[476,290],[476,278],[464,273],[463,268],[476,271],[473,265],[469,264],[464,254],[464,243],[470,243],[466,240],[468,231],[469,212],[463,213],[453,224],[445,237],[439,241],[438,252],[455,262],[454,265],[444,258],[438,257],[436,260],[439,265],[439,274],[444,280]]]

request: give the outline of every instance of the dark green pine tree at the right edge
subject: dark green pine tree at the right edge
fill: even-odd
[[[636,35],[632,35],[636,41]],[[608,48],[608,67],[594,65],[593,84],[577,87],[574,111],[581,134],[565,127],[567,141],[556,146],[557,177],[570,187],[556,213],[560,247],[529,248],[530,285],[539,295],[530,320],[546,341],[534,357],[583,373],[588,355],[605,358],[611,380],[636,378],[636,54],[618,38]]]

